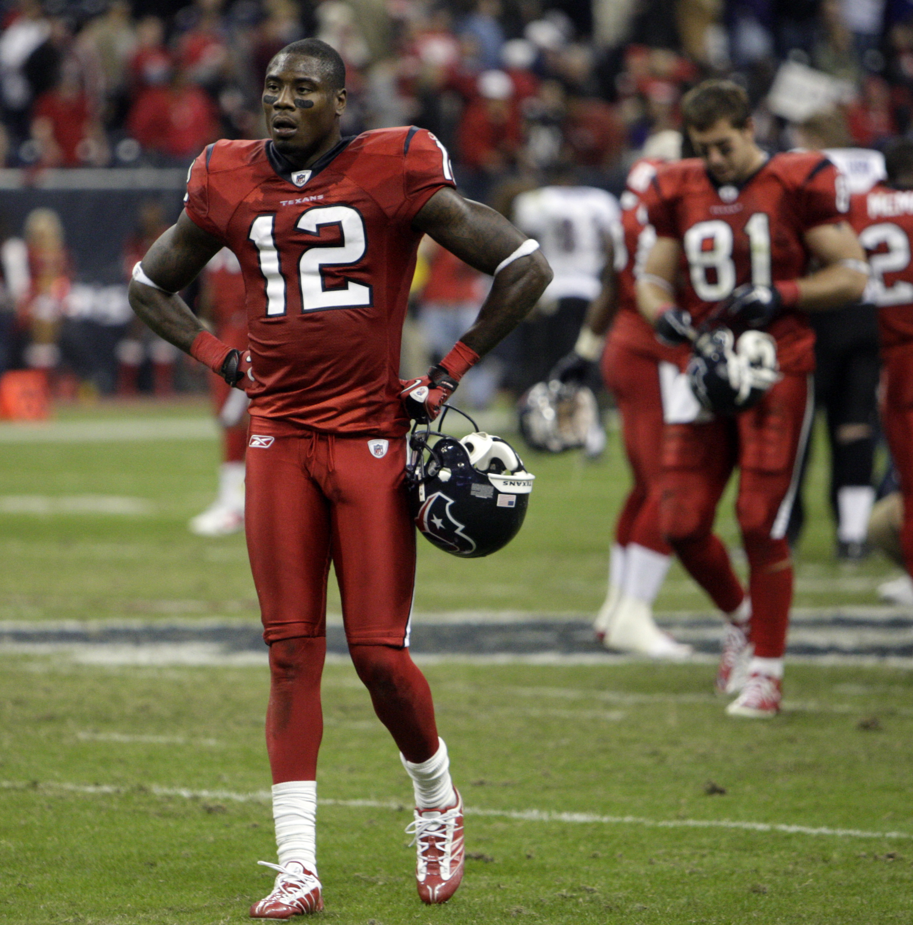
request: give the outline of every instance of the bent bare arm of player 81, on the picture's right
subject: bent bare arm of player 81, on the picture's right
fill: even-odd
[[[798,307],[806,312],[824,312],[858,302],[869,277],[866,255],[853,229],[845,223],[822,225],[806,232],[805,240],[824,266],[797,280]]]

